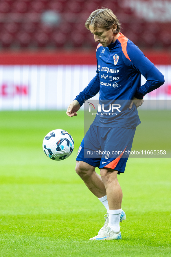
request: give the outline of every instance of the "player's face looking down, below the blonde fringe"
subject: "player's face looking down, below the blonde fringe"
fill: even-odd
[[[114,28],[111,27],[109,30],[106,30],[105,28],[94,28],[89,25],[89,29],[91,33],[94,35],[94,40],[95,42],[99,42],[102,44],[103,47],[106,47],[110,45],[110,43],[115,42],[115,34],[113,34],[113,30],[115,30],[115,24]]]

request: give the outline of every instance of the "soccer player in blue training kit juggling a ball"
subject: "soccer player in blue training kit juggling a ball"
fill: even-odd
[[[117,109],[116,116],[107,117],[97,113],[79,147],[76,172],[107,209],[104,226],[90,240],[121,239],[119,222],[126,219],[126,215],[121,209],[122,189],[117,174],[124,173],[135,128],[140,123],[137,107],[143,103],[145,94],[164,83],[164,77],[139,48],[120,33],[119,20],[112,10],[95,10],[87,19],[85,27],[99,42],[96,51],[97,74],[69,105],[67,115],[76,116],[84,100],[98,92],[101,104],[109,100],[122,107],[118,107],[121,111]],[[142,86],[141,74],[146,78]],[[125,102],[119,104],[119,101]],[[122,149],[122,154],[87,157],[84,148],[104,152]],[[122,158],[126,150],[126,158]],[[95,167],[100,168],[101,176],[95,172]]]

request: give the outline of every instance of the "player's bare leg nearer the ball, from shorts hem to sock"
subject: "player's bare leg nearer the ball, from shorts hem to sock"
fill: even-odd
[[[98,198],[106,196],[104,183],[101,176],[95,172],[94,166],[84,161],[77,161],[76,172],[95,196]]]

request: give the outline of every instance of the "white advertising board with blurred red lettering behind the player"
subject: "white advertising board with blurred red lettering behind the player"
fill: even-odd
[[[156,67],[165,83],[144,99],[171,99],[171,65]],[[95,74],[95,65],[0,65],[0,110],[66,110]]]

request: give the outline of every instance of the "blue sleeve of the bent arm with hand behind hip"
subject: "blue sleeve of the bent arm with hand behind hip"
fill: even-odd
[[[144,85],[137,88],[134,95],[137,99],[143,99],[145,94],[150,93],[164,84],[164,76],[132,42],[127,44],[127,53],[131,61],[131,64],[129,61],[129,66],[132,66],[147,80]]]

